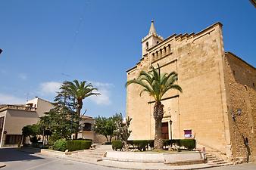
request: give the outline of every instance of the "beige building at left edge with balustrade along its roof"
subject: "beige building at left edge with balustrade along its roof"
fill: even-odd
[[[51,102],[35,97],[23,105],[0,105],[0,147],[18,144],[22,128],[33,125],[53,108]]]

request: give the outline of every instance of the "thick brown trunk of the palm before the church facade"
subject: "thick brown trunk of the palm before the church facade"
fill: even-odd
[[[163,138],[162,138],[162,119],[164,116],[164,105],[161,101],[156,101],[154,106],[154,119],[155,119],[155,141],[154,149],[163,149]]]

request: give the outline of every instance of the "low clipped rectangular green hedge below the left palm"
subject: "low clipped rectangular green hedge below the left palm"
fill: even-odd
[[[67,141],[67,150],[86,150],[92,145],[92,141]]]

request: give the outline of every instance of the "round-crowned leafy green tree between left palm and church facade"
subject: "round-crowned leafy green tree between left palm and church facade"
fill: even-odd
[[[95,118],[94,131],[97,134],[102,134],[107,139],[108,143],[111,143],[114,137],[114,131],[117,129],[117,121],[122,119],[120,114],[115,114],[111,117],[98,116]]]

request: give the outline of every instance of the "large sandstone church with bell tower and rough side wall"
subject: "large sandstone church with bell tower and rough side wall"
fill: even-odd
[[[127,70],[127,79],[136,79],[151,64],[159,64],[162,73],[176,71],[183,88],[183,93],[173,90],[162,99],[163,138],[195,138],[197,147],[217,156],[238,162],[248,156],[256,160],[256,71],[224,51],[221,23],[164,39],[152,21],[142,39],[142,57]],[[155,135],[155,102],[148,94],[140,97],[141,90],[130,85],[126,91],[126,116],[133,118],[131,140]]]

